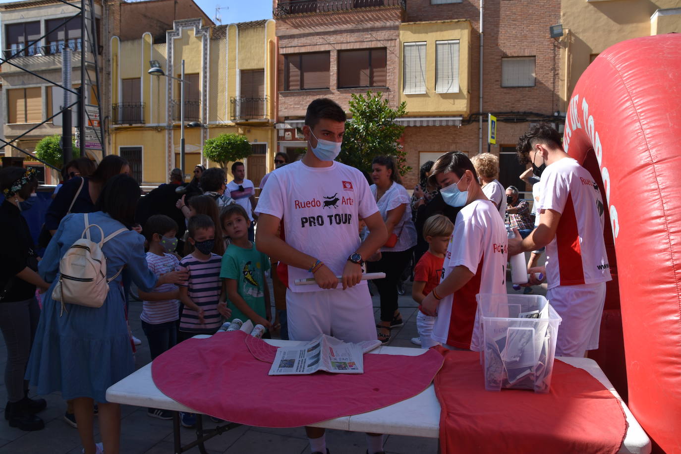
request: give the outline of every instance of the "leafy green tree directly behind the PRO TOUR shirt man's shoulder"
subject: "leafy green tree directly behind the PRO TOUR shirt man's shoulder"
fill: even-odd
[[[398,144],[405,127],[394,122],[407,114],[407,103],[402,102],[393,109],[383,99],[383,93],[352,95],[350,114],[352,120],[345,125],[343,147],[338,161],[357,167],[362,172],[371,172],[371,161],[377,156],[392,156],[396,160],[400,175],[411,171],[406,165],[407,152]]]

